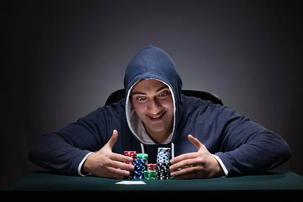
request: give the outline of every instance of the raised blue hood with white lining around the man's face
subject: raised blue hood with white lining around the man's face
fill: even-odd
[[[174,61],[162,49],[155,45],[143,47],[129,62],[124,77],[125,88],[125,111],[129,129],[135,137],[143,144],[156,144],[151,140],[136,115],[129,99],[130,91],[134,84],[141,79],[157,79],[166,84],[173,98],[174,104],[174,125],[173,132],[169,138],[161,144],[168,144],[174,141],[177,135],[177,128],[181,119],[181,89],[182,80],[177,72]]]

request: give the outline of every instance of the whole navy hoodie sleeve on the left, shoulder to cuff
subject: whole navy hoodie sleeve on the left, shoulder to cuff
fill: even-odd
[[[79,165],[112,135],[109,127],[104,127],[110,125],[111,113],[107,111],[100,108],[57,131],[43,134],[31,147],[29,160],[46,170],[82,175]]]

